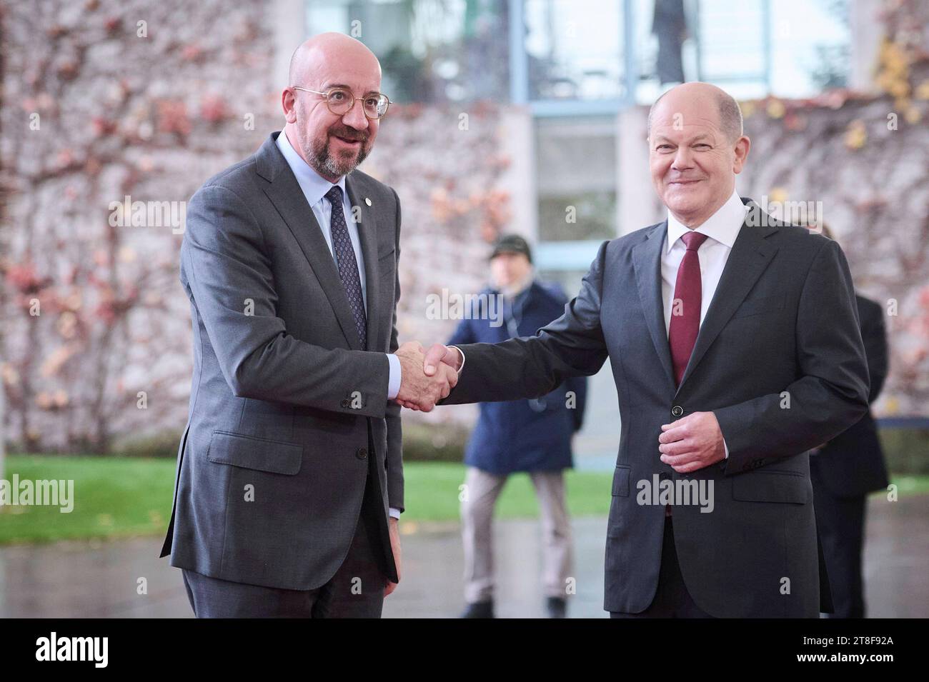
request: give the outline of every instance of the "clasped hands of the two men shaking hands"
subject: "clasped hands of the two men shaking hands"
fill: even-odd
[[[395,401],[413,410],[429,412],[448,397],[458,383],[464,362],[454,348],[435,343],[428,351],[416,341],[407,341],[395,353],[400,361],[400,389]]]

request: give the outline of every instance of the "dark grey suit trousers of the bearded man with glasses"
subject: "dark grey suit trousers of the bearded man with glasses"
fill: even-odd
[[[387,578],[383,538],[376,516],[383,515],[383,505],[378,499],[378,486],[372,484],[374,475],[369,468],[351,546],[327,583],[311,590],[279,589],[233,583],[183,569],[194,615],[197,618],[380,618]]]

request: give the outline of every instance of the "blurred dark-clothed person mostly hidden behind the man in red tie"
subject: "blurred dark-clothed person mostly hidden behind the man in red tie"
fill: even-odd
[[[822,234],[833,238],[828,226]],[[856,295],[858,323],[870,374],[868,402],[873,403],[887,376],[887,336],[883,308]],[[829,572],[832,618],[864,618],[861,553],[864,547],[867,495],[887,487],[881,441],[870,410],[848,431],[813,451],[810,478],[822,551]]]

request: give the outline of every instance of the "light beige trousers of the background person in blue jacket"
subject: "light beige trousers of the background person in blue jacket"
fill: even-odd
[[[566,597],[571,570],[571,526],[565,505],[561,470],[530,471],[539,498],[543,531],[543,590],[546,597]],[[469,604],[493,598],[493,508],[507,476],[468,467],[462,500],[464,540],[464,600]]]

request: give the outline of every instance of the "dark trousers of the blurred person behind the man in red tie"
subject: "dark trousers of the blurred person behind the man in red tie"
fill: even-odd
[[[840,497],[833,494],[810,467],[813,506],[829,573],[833,612],[831,618],[864,618],[864,581],[861,551],[864,547],[865,495]]]

